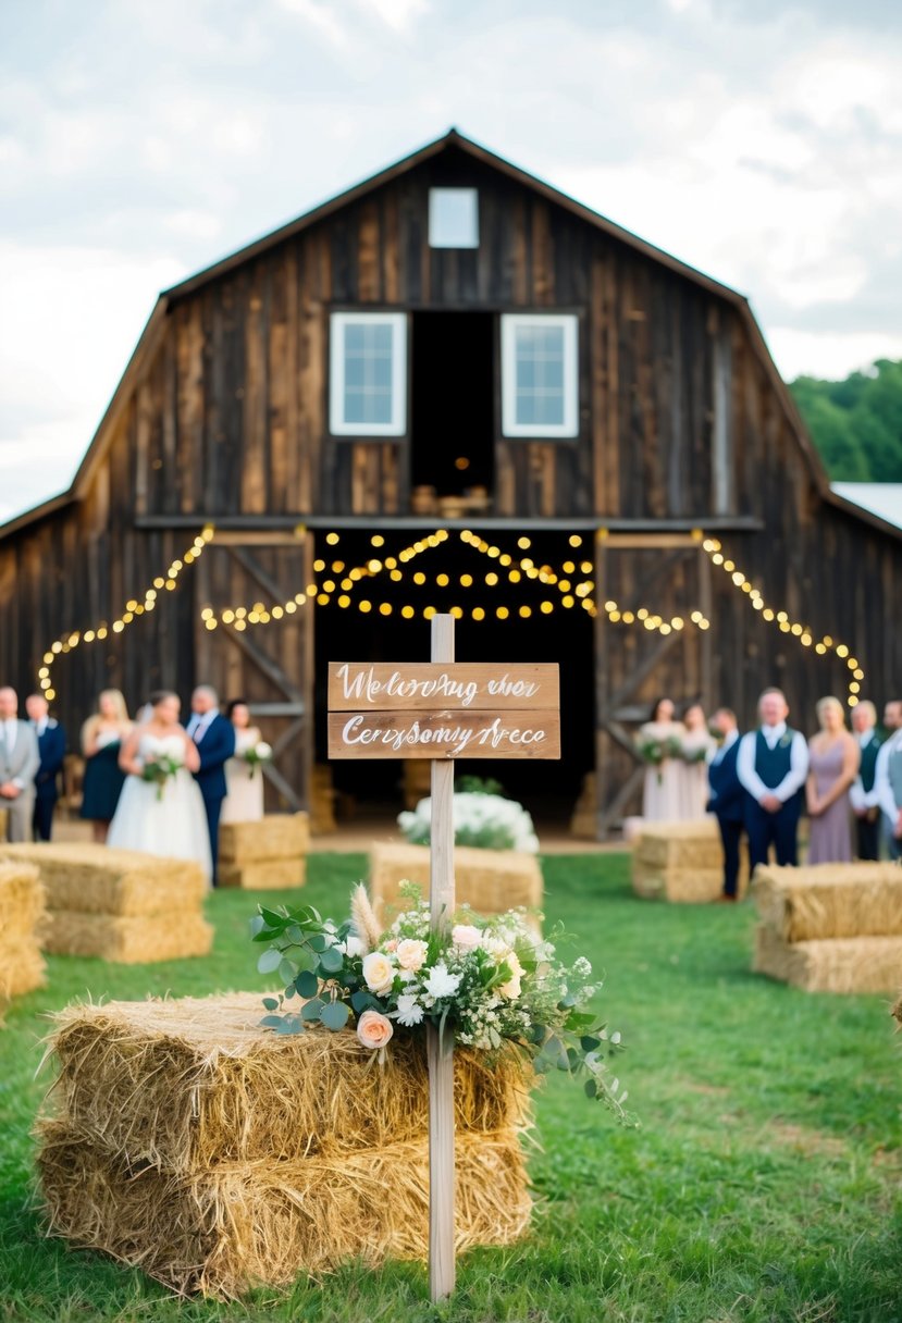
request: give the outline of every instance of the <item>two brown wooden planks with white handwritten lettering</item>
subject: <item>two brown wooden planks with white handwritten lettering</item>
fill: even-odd
[[[329,758],[559,758],[557,665],[329,664]]]

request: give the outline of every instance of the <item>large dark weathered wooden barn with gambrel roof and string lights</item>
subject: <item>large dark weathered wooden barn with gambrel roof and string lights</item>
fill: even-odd
[[[659,693],[751,720],[779,683],[805,730],[889,696],[899,552],[742,295],[451,131],[160,296],[71,488],[0,529],[0,675],[73,736],[103,687],[212,681],[298,806],[327,660],[423,659],[454,610],[462,660],[561,663],[559,770],[497,771],[569,811],[596,770],[604,833]]]

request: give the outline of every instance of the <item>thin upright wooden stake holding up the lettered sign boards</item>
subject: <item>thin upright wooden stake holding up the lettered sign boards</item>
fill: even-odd
[[[432,617],[432,662],[454,662],[454,617]],[[454,914],[454,761],[432,759],[430,828],[430,916],[447,930]],[[454,1254],[454,1046],[427,1033],[429,1048],[429,1291],[432,1302],[451,1295]]]

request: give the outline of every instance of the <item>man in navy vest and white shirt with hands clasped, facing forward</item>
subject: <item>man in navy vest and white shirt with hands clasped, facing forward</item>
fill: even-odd
[[[737,774],[746,790],[745,824],[749,867],[766,864],[771,844],[778,864],[798,863],[799,815],[808,775],[805,737],[786,724],[790,708],[782,689],[758,700],[758,730],[739,741]]]

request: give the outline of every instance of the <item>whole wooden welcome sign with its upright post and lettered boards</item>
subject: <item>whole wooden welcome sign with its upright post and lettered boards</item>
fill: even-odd
[[[432,617],[429,663],[329,663],[329,758],[430,758],[430,918],[447,930],[454,898],[455,758],[559,758],[557,665],[454,662],[454,617]],[[454,1291],[454,1050],[431,1027],[429,1053],[429,1286]]]

